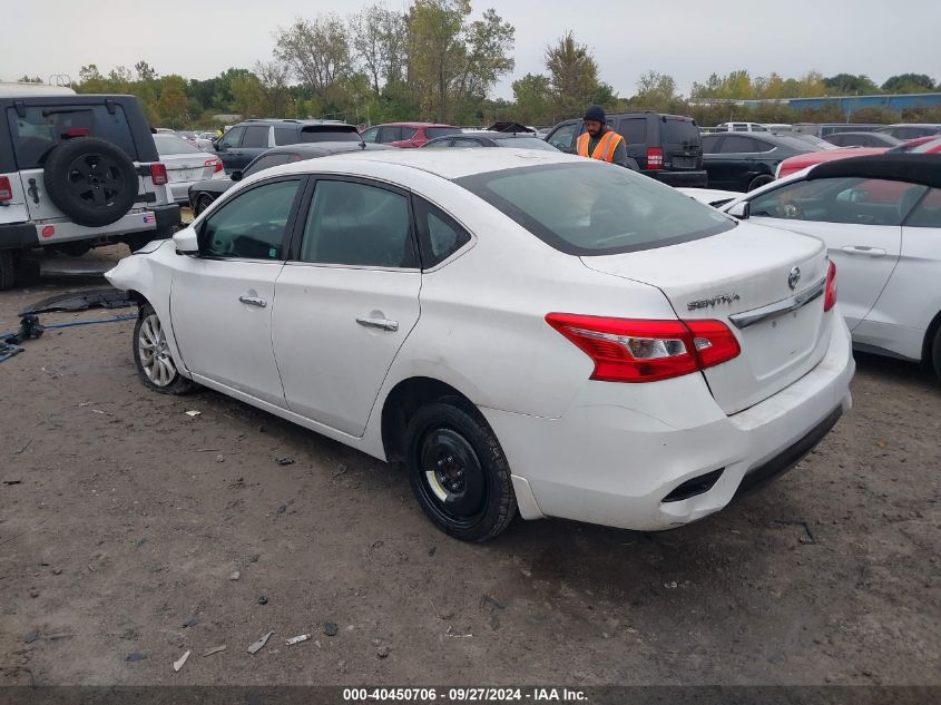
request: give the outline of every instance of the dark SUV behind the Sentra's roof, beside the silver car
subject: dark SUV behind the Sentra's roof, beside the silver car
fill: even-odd
[[[362,141],[353,125],[335,120],[245,120],[213,143],[227,174],[272,147],[311,141]]]

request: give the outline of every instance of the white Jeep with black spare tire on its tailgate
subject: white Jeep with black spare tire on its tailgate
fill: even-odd
[[[169,237],[179,206],[133,96],[0,86],[0,290],[26,251]]]

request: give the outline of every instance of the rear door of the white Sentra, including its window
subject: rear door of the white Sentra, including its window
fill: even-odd
[[[272,326],[287,408],[362,435],[419,319],[422,275],[408,194],[320,177],[291,255]]]

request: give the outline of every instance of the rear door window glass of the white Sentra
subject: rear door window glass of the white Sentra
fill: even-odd
[[[359,182],[318,180],[304,226],[301,262],[416,267],[408,198]]]

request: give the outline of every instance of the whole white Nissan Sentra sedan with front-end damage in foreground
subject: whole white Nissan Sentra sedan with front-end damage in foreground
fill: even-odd
[[[821,241],[548,151],[337,155],[121,261],[150,389],[194,383],[404,462],[464,540],[657,530],[792,468],[850,408]]]

